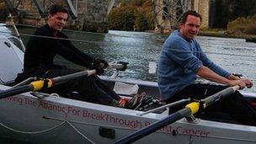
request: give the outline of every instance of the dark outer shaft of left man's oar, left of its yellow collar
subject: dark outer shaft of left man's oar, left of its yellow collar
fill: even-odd
[[[18,87],[18,88],[10,88],[10,89],[5,90],[5,91],[0,93],[0,99],[7,98],[7,97],[10,97],[10,96],[19,94],[19,93],[29,92],[29,91],[32,91],[32,90],[33,90],[33,86],[30,85],[30,84],[29,85],[24,85],[24,86],[21,86],[21,87]]]

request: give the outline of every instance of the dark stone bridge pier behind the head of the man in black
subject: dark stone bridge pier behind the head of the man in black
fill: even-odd
[[[69,9],[69,29],[108,32],[107,15],[115,0],[0,0],[0,6],[5,5],[14,20],[29,25],[45,24],[47,10],[53,3]]]

